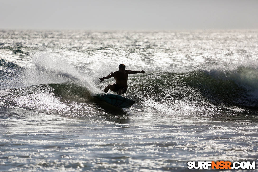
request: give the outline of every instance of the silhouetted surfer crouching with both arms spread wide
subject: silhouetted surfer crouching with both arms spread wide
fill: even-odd
[[[118,95],[122,95],[127,91],[127,80],[128,80],[128,74],[134,74],[134,73],[145,73],[145,71],[130,71],[125,70],[125,65],[120,64],[118,66],[118,71],[111,72],[108,76],[105,76],[103,78],[100,78],[99,82],[104,82],[105,79],[109,79],[111,77],[114,77],[116,80],[115,84],[108,84],[108,86],[104,89],[104,92],[107,93],[110,89],[111,91],[114,91],[118,93]]]

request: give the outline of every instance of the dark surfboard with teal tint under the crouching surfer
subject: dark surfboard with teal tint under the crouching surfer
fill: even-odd
[[[115,94],[102,93],[97,94],[95,97],[118,108],[128,108],[133,106],[133,104],[135,103],[135,101],[131,99]]]

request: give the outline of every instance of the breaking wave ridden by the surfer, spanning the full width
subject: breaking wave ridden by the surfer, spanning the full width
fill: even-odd
[[[136,100],[137,106],[141,108],[154,108],[158,112],[165,111],[167,114],[175,111],[178,103],[199,108],[203,106],[258,108],[257,67],[238,66],[228,70],[229,68],[224,66],[222,70],[216,68],[218,66],[221,64],[207,63],[179,73],[154,71],[131,76],[128,92],[124,96]],[[52,109],[58,110],[55,105],[67,106],[65,104],[67,101],[94,104],[94,101],[88,101],[93,99],[94,89],[98,87],[102,90],[106,85],[89,86],[89,83],[81,81],[76,76],[52,71],[51,75],[53,74],[69,81],[1,90],[1,101],[12,102],[5,106],[38,109],[48,107],[48,110],[51,109],[51,104],[54,104]],[[92,90],[92,87],[95,88]],[[46,102],[46,99],[52,101]],[[160,109],[161,105],[163,109]]]

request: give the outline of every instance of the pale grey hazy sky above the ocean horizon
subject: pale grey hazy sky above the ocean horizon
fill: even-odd
[[[258,29],[258,0],[0,0],[1,29]]]

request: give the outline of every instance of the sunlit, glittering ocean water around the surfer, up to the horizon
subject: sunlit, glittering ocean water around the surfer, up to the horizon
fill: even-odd
[[[257,47],[257,30],[1,30],[0,171],[257,166]],[[146,72],[123,110],[93,97],[120,63]]]

